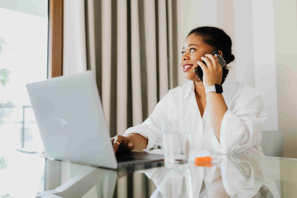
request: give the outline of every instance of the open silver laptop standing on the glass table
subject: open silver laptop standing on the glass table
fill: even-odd
[[[112,169],[163,160],[129,152],[117,162],[91,71],[27,84],[27,90],[48,157]]]

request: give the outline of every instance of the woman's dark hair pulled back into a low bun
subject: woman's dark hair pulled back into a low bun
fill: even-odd
[[[224,30],[211,26],[202,26],[192,29],[187,37],[190,34],[202,37],[202,41],[213,47],[214,50],[221,50],[226,64],[234,61],[235,57],[231,53],[232,41]],[[228,67],[226,69],[228,69]]]

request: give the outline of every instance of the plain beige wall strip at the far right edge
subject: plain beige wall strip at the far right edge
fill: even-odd
[[[296,0],[273,4],[279,129],[285,133],[284,156],[297,158]]]

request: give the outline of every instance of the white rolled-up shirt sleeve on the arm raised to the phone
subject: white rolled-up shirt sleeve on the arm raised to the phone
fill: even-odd
[[[260,95],[251,89],[238,93],[237,102],[228,106],[221,123],[220,142],[212,133],[212,145],[218,153],[240,153],[260,147],[260,130],[267,115]]]

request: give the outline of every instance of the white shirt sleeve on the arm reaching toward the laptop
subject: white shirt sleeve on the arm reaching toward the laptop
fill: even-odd
[[[125,134],[137,133],[149,140],[146,149],[162,145],[162,121],[168,120],[167,106],[168,93],[158,102],[153,113],[142,123],[130,127]]]

